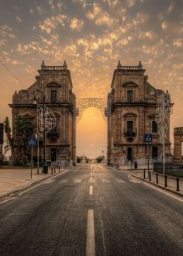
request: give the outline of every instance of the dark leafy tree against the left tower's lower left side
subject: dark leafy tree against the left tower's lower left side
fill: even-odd
[[[16,136],[13,147],[17,149],[16,161],[22,161],[23,158],[29,157],[30,150],[28,137],[33,135],[34,125],[26,116],[16,116]]]

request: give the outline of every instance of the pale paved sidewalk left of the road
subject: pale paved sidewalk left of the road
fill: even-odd
[[[65,169],[60,169],[64,171]],[[56,169],[57,173],[58,170]],[[26,189],[29,186],[36,184],[43,179],[47,179],[53,176],[51,169],[49,168],[48,174],[42,173],[40,168],[40,174],[37,175],[37,169],[33,168],[33,178],[30,178],[30,169],[4,169],[0,168],[0,199],[5,196],[11,195],[13,192]]]

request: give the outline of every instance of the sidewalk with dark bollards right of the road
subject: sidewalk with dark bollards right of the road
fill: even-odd
[[[146,171],[146,178],[143,179],[143,171],[140,173],[136,173],[132,175],[133,177],[139,178],[143,180],[144,182],[148,182],[152,185],[155,185],[161,189],[165,189],[169,192],[173,192],[177,195],[183,196],[183,178],[179,178],[179,191],[177,191],[177,183],[176,178],[171,175],[167,175],[167,187],[164,186],[164,175],[159,174],[158,175],[158,184],[156,183],[156,174],[151,171],[151,181],[149,181],[149,178],[147,177],[147,171]]]

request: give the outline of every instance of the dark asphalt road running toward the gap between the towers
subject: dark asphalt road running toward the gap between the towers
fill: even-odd
[[[183,200],[81,164],[0,204],[0,255],[183,255]]]

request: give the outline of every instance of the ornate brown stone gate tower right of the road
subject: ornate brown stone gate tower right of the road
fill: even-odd
[[[108,164],[128,164],[137,161],[147,164],[161,160],[163,147],[157,133],[155,112],[157,95],[162,90],[148,82],[141,62],[137,66],[119,64],[114,71],[111,92],[108,95]],[[143,142],[143,136],[152,133],[153,142]],[[115,148],[118,149],[116,154]],[[170,127],[165,152],[170,154]]]

